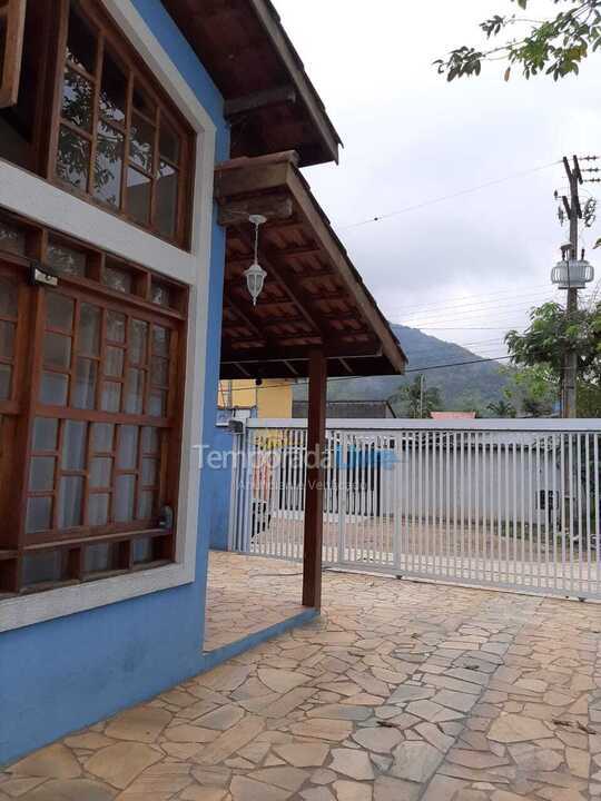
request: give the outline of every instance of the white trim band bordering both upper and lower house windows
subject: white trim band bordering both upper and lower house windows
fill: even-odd
[[[107,11],[196,131],[190,253],[0,159],[0,206],[190,287],[176,561],[171,565],[0,601],[0,632],[189,584],[196,574],[216,128],[131,0]]]

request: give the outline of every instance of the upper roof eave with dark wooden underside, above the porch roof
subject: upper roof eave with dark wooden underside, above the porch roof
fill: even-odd
[[[338,160],[341,138],[270,0],[162,2],[224,96],[231,156]]]

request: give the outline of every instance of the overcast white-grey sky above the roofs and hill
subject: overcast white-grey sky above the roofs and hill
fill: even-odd
[[[450,85],[432,61],[452,47],[480,43],[477,23],[514,11],[514,3],[276,6],[344,141],[338,167],[311,168],[306,176],[382,309],[393,322],[479,354],[503,354],[504,332],[523,326],[528,308],[554,294],[549,274],[568,234],[553,200],[553,190],[565,185],[561,166],[385,221],[347,226],[564,154],[601,152],[601,53],[579,78],[560,83],[518,75],[505,83],[504,66],[492,63],[479,79]],[[550,0],[533,0],[529,13],[550,8]],[[585,235],[589,243],[594,234],[601,236],[601,219]]]

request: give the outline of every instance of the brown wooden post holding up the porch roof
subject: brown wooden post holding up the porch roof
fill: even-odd
[[[323,348],[309,354],[307,469],[305,479],[305,543],[303,605],[322,606],[322,544],[324,538],[324,469],[326,448],[327,362]]]

